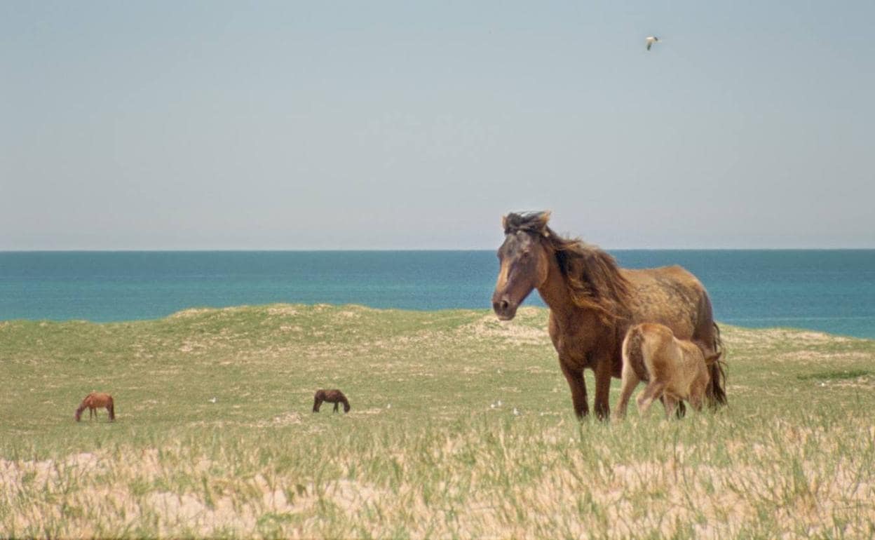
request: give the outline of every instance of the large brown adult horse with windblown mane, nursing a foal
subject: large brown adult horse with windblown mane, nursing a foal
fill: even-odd
[[[577,417],[589,413],[584,369],[595,372],[595,411],[610,416],[611,377],[623,367],[620,346],[629,326],[657,322],[678,339],[691,340],[705,356],[721,349],[711,300],[699,280],[680,266],[629,270],[605,251],[556,235],[549,212],[507,214],[498,250],[500,271],[493,310],[510,320],[537,289],[549,307],[549,336],[571,389]],[[722,364],[711,366],[709,403],[726,403]]]

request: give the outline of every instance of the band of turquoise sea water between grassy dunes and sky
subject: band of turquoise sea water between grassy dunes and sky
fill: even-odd
[[[875,249],[614,250],[681,264],[718,321],[875,338]],[[0,319],[154,319],[274,302],[488,309],[494,251],[0,252]],[[542,305],[537,293],[526,302]]]

